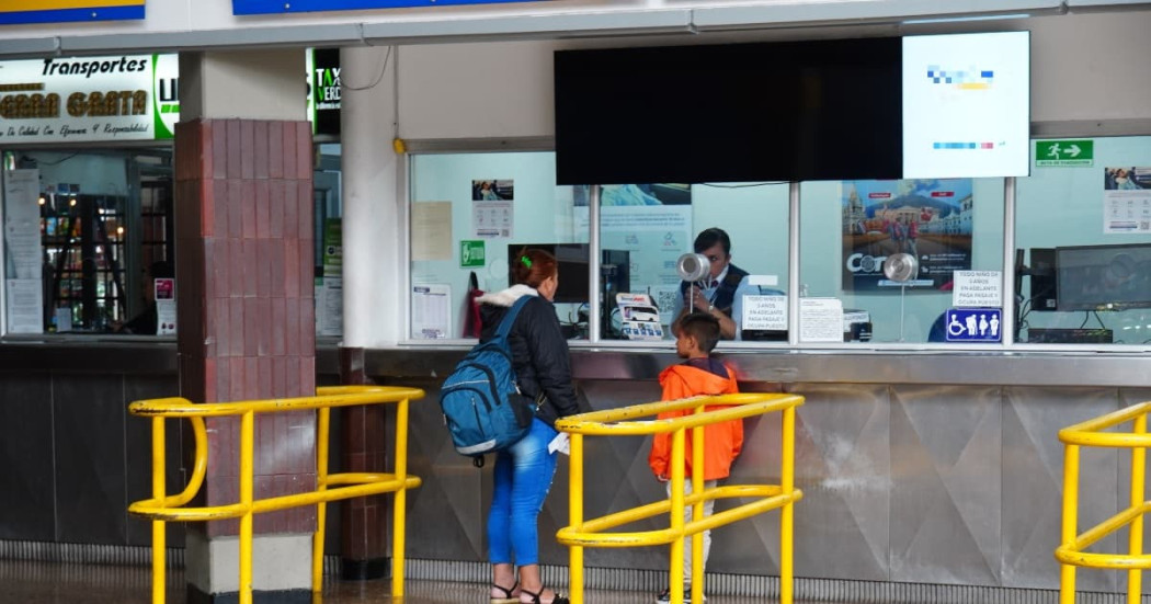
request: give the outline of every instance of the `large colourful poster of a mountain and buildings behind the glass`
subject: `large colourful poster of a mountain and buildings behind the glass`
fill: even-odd
[[[916,284],[942,288],[971,268],[971,181],[843,183],[843,289],[876,290],[889,255],[918,259]]]

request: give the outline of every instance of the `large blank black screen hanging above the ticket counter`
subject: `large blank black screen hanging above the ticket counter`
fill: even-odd
[[[902,176],[901,39],[555,54],[558,184]]]

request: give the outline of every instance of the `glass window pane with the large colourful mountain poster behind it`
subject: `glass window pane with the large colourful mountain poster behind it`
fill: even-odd
[[[1001,178],[802,183],[801,295],[838,300],[846,341],[944,342],[954,270],[999,272],[1003,292],[1003,191]]]

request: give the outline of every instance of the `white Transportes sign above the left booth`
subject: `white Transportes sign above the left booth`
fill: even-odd
[[[175,54],[0,62],[0,145],[169,139],[178,76]]]

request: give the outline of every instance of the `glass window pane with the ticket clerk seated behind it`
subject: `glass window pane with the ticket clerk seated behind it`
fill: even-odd
[[[656,183],[602,189],[602,246],[627,254],[630,291],[653,298],[662,339],[672,338],[671,322],[692,306],[685,301],[694,297],[698,309],[712,307],[726,316],[721,323],[729,339],[786,342],[786,314],[753,326],[762,329],[744,330],[742,326],[744,309],[760,304],[749,296],[773,296],[780,301],[772,307],[786,309],[787,189],[779,183]],[[696,239],[707,244],[704,249],[695,250]],[[694,252],[706,252],[709,270],[688,283],[680,277],[678,261]],[[647,309],[641,311],[640,318],[646,319]],[[612,316],[604,337],[653,338],[647,330],[638,335],[625,331],[646,326],[620,314]]]

